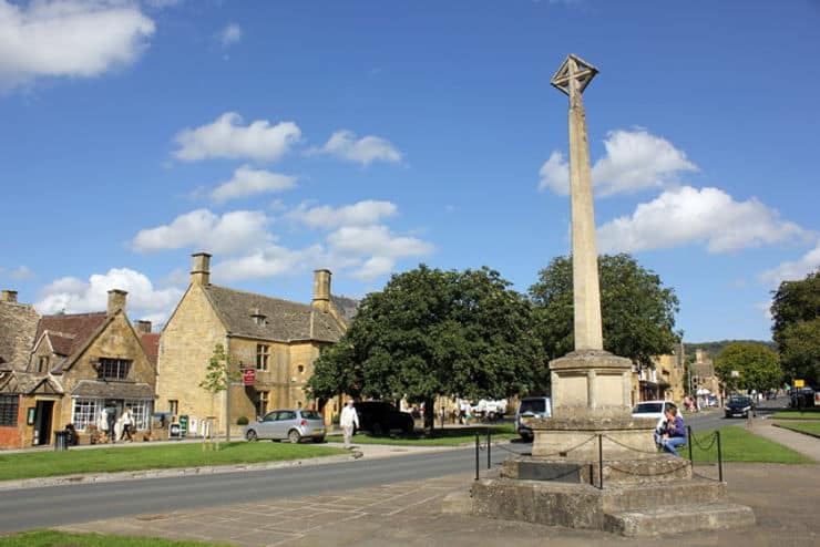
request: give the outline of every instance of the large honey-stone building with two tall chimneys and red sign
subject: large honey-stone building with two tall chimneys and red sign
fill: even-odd
[[[162,332],[158,357],[158,406],[187,415],[202,432],[203,419],[232,429],[275,407],[317,406],[326,416],[338,401],[308,401],[305,383],[324,348],[337,342],[355,312],[351,299],[330,293],[330,271],[314,272],[311,303],[297,303],[211,283],[211,255],[193,255],[191,283]],[[217,344],[225,348],[243,381],[212,395],[199,386]]]

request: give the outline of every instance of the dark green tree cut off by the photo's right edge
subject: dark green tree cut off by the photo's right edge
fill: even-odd
[[[773,291],[772,334],[788,380],[820,385],[820,269]]]

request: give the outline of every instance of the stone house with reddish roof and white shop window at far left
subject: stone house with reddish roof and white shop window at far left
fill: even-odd
[[[120,414],[129,406],[136,429],[150,427],[156,386],[151,347],[156,342],[132,327],[126,296],[110,290],[104,312],[39,319],[27,367],[0,385],[0,393],[17,396],[20,406],[17,438],[7,446],[50,444],[53,432],[69,423],[86,432],[104,407]]]

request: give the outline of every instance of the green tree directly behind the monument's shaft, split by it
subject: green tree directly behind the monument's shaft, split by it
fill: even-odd
[[[669,353],[680,338],[675,329],[678,299],[653,271],[629,255],[598,258],[604,349],[652,367],[652,358]],[[547,359],[573,351],[572,257],[554,258],[530,287],[536,333]]]

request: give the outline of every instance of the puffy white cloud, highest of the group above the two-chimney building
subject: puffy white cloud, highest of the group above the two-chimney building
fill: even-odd
[[[270,125],[257,120],[247,126],[235,112],[226,112],[211,124],[180,132],[174,141],[181,148],[174,157],[185,162],[215,157],[275,161],[290,152],[301,138],[301,131],[293,122]]]

